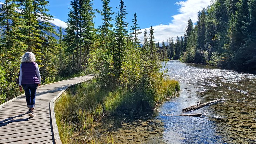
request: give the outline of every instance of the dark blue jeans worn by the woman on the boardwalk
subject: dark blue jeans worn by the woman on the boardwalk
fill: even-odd
[[[35,95],[38,84],[22,84],[25,91],[27,107],[35,108]]]

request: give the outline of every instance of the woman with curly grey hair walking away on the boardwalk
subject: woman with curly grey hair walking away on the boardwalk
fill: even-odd
[[[35,55],[32,52],[26,52],[21,57],[19,89],[22,87],[25,91],[28,115],[34,117],[33,109],[35,108],[35,96],[38,85],[41,85],[41,76],[38,64],[34,62]]]

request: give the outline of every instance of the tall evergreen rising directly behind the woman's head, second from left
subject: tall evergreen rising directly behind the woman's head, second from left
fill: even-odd
[[[48,1],[45,0],[22,0],[17,4],[21,10],[22,20],[25,26],[22,27],[23,41],[28,46],[27,51],[35,53],[36,61],[42,63],[43,48],[49,46],[50,40],[53,39],[51,33],[55,33],[49,20],[52,16],[47,14],[46,8]]]

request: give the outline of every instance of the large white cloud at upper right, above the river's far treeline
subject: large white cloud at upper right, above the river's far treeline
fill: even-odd
[[[192,21],[196,23],[198,11],[207,8],[210,2],[211,0],[186,0],[177,2],[176,5],[180,6],[178,9],[179,13],[172,16],[173,20],[171,23],[168,25],[153,26],[156,37],[155,41],[161,44],[163,40],[166,42],[169,37],[173,37],[175,42],[177,36],[184,35],[189,16],[191,16]],[[145,29],[147,29],[149,33],[149,28],[141,29],[142,33],[139,35],[141,41],[144,39],[143,35]]]

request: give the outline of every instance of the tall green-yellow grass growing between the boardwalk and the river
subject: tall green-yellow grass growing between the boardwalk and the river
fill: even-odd
[[[167,97],[179,90],[175,80],[161,80],[155,103],[162,103]],[[149,93],[148,93],[149,94]],[[125,89],[112,91],[102,90],[96,80],[81,83],[70,87],[64,92],[55,105],[56,122],[62,143],[74,143],[74,131],[90,133],[94,122],[103,116],[126,110],[130,114],[137,111],[138,94],[133,94]],[[140,103],[140,107],[143,105]],[[145,106],[145,105],[144,105]],[[87,143],[98,143],[97,139],[89,138]],[[109,139],[112,143],[113,139]]]

